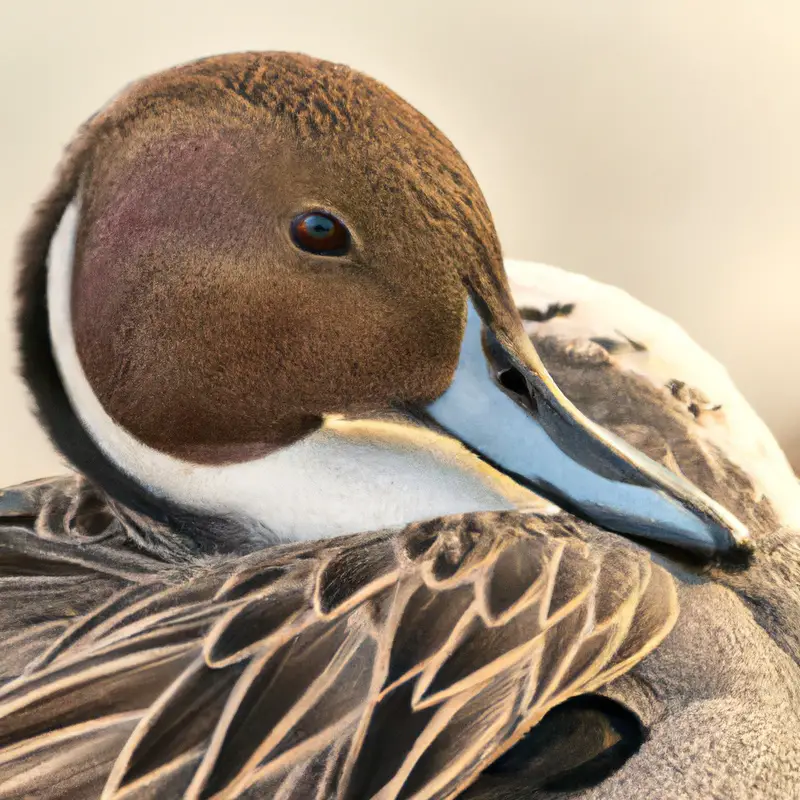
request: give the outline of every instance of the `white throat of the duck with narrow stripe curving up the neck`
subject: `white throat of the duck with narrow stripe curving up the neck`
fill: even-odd
[[[71,312],[78,218],[73,202],[50,248],[47,298],[54,358],[73,409],[95,444],[156,497],[199,514],[238,519],[265,538],[282,540],[533,502],[532,495],[459,443],[411,426],[330,418],[289,447],[226,466],[192,464],[148,447],[108,415],[78,357]]]

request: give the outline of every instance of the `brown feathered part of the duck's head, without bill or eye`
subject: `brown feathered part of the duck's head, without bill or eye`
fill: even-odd
[[[145,443],[227,459],[447,388],[465,278],[502,276],[500,248],[458,152],[389,89],[305,56],[224,56],[135,85],[84,138],[76,343]],[[346,252],[293,240],[313,211]]]

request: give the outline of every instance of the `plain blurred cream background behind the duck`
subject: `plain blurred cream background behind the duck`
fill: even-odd
[[[62,147],[128,81],[248,49],[388,83],[461,149],[507,255],[673,316],[800,464],[798,42],[797,0],[2,0],[0,485],[61,469],[11,292]]]

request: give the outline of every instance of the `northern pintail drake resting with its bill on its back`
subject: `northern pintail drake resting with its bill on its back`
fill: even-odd
[[[0,498],[0,797],[800,797],[786,459],[383,85],[131,85],[19,306],[76,472]]]

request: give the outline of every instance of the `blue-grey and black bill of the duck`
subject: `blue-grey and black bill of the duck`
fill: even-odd
[[[470,302],[453,383],[426,409],[439,426],[603,528],[705,553],[746,543],[747,529],[722,506],[581,414],[526,337],[504,338]]]

